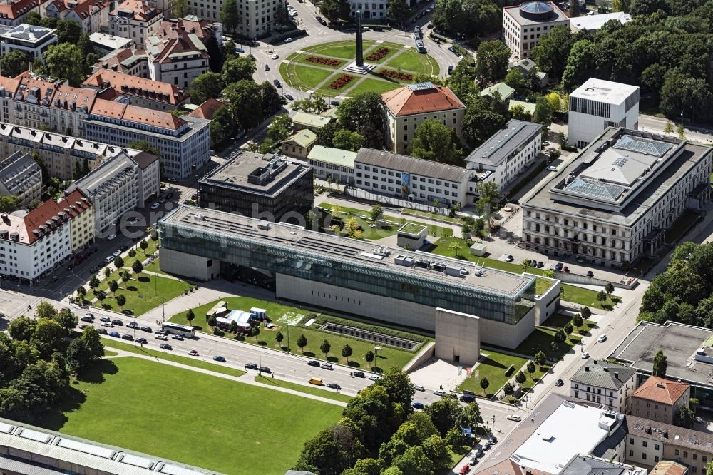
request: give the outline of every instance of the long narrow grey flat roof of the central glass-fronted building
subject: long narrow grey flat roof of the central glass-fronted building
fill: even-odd
[[[284,247],[288,252],[313,253],[320,259],[331,258],[344,263],[378,267],[384,272],[406,274],[409,277],[417,275],[421,279],[431,280],[438,285],[448,282],[449,285],[461,286],[468,290],[478,290],[492,295],[516,297],[534,282],[533,277],[488,267],[483,267],[478,271],[473,262],[448,259],[448,257],[427,252],[394,249],[366,241],[304,230],[287,223],[267,223],[267,221],[208,208],[181,205],[161,219],[159,225],[172,225],[179,230],[183,228],[193,234],[210,233],[220,236],[222,240],[235,238],[255,242],[256,245]],[[396,263],[397,256],[399,262],[411,262],[411,265]],[[436,265],[419,267],[419,261],[434,261]],[[451,270],[464,269],[467,274],[458,272],[458,275],[448,275],[447,271],[435,270],[440,264],[444,269],[446,267]]]

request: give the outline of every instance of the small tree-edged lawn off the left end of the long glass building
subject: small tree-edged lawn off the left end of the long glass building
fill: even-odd
[[[108,280],[117,279],[118,275],[114,272]],[[108,282],[107,280],[107,282]],[[108,290],[108,283],[101,282],[99,288]],[[123,307],[119,307],[114,300],[111,292],[107,292],[106,299],[103,302],[96,300],[93,305],[103,307],[106,310],[133,310],[134,315],[141,315],[149,310],[163,304],[164,299],[168,300],[182,295],[184,290],[188,290],[193,285],[182,280],[169,279],[168,277],[158,277],[157,275],[142,274],[140,276],[132,275],[128,282],[119,282],[119,290],[116,295],[126,297],[126,303]],[[88,298],[93,298],[91,292],[88,293]]]

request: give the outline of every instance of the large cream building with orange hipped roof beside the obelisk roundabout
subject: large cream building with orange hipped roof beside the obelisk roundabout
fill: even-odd
[[[384,103],[386,145],[395,153],[406,153],[421,122],[435,120],[455,129],[461,137],[466,106],[446,86],[433,83],[409,84],[381,94]]]

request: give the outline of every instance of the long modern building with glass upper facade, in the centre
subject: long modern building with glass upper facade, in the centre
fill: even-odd
[[[160,220],[158,230],[162,270],[188,275],[200,265],[217,268],[217,262],[221,272],[227,266],[247,267],[274,277],[278,295],[288,293],[294,300],[360,311],[381,320],[390,320],[390,314],[371,308],[379,305],[379,297],[383,302],[402,302],[404,315],[398,318],[409,322],[410,312],[414,327],[430,327],[419,321],[419,312],[426,307],[476,315],[481,321],[508,327],[534,313],[533,277],[477,267],[472,262],[379,247],[205,208],[177,208]],[[205,264],[185,257],[164,260],[164,253],[200,256]],[[193,273],[193,277],[200,275]],[[294,295],[296,283],[302,289],[300,295]],[[409,310],[408,305],[414,307]],[[484,334],[483,339],[487,340]]]

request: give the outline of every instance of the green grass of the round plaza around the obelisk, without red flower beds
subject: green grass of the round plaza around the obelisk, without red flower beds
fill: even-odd
[[[381,48],[389,51],[381,57],[369,60],[369,55]],[[338,66],[329,66],[307,61],[310,56],[340,61]],[[339,89],[330,89],[329,85],[343,74],[343,68],[356,58],[356,41],[333,41],[326,44],[308,46],[304,50],[287,56],[279,66],[279,73],[285,83],[302,91],[318,91],[325,96],[354,95],[366,91],[384,93],[402,86],[402,81],[384,78],[376,73],[367,76],[356,75],[354,81]],[[415,48],[403,44],[372,40],[364,41],[364,60],[366,63],[379,64],[392,71],[410,74],[438,76],[438,63],[427,54],[421,54]]]

